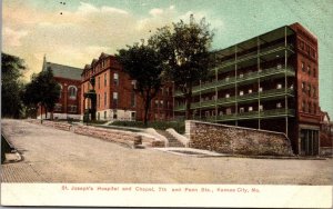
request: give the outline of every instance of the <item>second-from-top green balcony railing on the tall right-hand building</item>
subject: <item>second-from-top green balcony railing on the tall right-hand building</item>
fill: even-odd
[[[231,77],[231,78],[225,78],[223,80],[218,80],[201,86],[195,86],[192,89],[192,93],[193,96],[195,96],[204,92],[212,92],[214,91],[215,88],[220,90],[220,89],[228,89],[230,87],[233,87],[232,84],[234,84],[235,82],[238,83],[238,86],[242,86],[251,82],[256,82],[258,79],[265,80],[265,79],[283,77],[284,74],[287,77],[294,77],[295,71],[293,70],[292,67],[284,68],[282,66],[279,66],[275,68],[269,68],[261,71],[249,72],[238,78]],[[182,96],[182,92],[175,91],[175,97],[180,97],[180,96]]]

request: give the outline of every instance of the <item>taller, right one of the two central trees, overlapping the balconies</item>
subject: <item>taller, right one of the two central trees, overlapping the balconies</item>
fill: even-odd
[[[190,23],[180,20],[172,27],[160,28],[149,40],[169,66],[165,76],[183,92],[186,119],[191,117],[192,87],[209,72],[209,48],[213,39],[209,26],[204,18],[195,22],[191,14]]]

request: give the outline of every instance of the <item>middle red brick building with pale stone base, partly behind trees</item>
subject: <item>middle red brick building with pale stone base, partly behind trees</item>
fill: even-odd
[[[125,73],[115,58],[101,53],[81,73],[81,113],[91,108],[84,93],[92,89],[90,79],[95,80],[97,120],[142,120],[143,102],[135,92],[135,81]],[[152,100],[149,118],[169,120],[172,117],[172,87],[163,87]]]

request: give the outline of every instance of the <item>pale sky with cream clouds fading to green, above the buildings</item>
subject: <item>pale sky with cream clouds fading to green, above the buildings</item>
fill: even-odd
[[[44,54],[83,68],[191,13],[214,29],[212,49],[300,22],[319,39],[320,104],[333,118],[332,8],[332,0],[2,0],[2,51],[24,59],[29,78]]]

